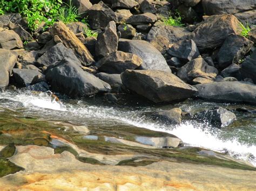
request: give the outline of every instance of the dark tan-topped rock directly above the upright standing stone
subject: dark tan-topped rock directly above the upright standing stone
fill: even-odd
[[[92,29],[105,29],[109,22],[117,22],[116,13],[102,1],[92,5],[88,11],[88,20]]]

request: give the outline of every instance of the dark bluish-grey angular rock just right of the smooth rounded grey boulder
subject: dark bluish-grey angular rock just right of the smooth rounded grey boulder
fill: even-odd
[[[185,61],[191,61],[200,56],[197,45],[193,40],[178,41],[168,50],[168,54]]]

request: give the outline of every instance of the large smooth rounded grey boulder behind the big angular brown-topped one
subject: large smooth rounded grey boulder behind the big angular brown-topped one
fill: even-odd
[[[155,69],[171,73],[163,55],[147,41],[119,39],[118,50],[138,55],[143,60],[140,69]]]

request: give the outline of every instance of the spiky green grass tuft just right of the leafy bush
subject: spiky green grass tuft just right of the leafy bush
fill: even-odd
[[[71,3],[71,1],[69,4],[66,4],[65,6],[59,8],[58,12],[55,15],[56,19],[61,20],[65,24],[77,22],[77,19],[79,17],[80,14],[78,13],[78,9]]]

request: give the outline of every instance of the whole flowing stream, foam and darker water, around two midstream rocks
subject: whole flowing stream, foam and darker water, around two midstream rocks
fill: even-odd
[[[221,106],[227,109],[250,105],[210,103],[188,100],[182,103],[152,105],[152,103],[113,104],[103,97],[90,97],[83,100],[63,98],[56,102],[47,93],[35,94],[30,91],[3,91],[0,93],[0,112],[10,109],[18,116],[30,116],[47,120],[59,120],[93,126],[137,126],[150,130],[168,132],[179,137],[185,145],[199,146],[218,152],[225,152],[234,158],[250,161],[256,166],[256,115],[237,112],[237,121],[232,125],[217,129],[207,122],[198,123],[183,120],[180,125],[172,126],[152,121],[150,112],[179,107],[186,112],[196,112]]]

